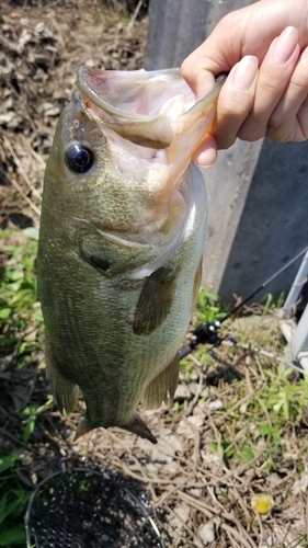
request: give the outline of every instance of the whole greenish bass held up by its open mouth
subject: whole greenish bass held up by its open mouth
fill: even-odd
[[[206,190],[191,162],[225,76],[196,101],[180,69],[83,66],[44,178],[37,285],[46,370],[61,413],[82,392],[76,439],[172,404],[201,283]]]

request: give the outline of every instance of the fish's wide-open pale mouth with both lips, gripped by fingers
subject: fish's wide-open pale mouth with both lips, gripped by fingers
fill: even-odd
[[[83,66],[77,85],[85,109],[125,139],[141,147],[167,149],[193,126],[196,135],[191,146],[195,148],[212,124],[225,79],[225,75],[217,77],[212,92],[197,103],[179,68],[104,71]],[[196,132],[199,119],[203,127]]]

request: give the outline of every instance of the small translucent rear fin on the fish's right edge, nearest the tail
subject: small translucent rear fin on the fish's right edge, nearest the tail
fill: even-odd
[[[166,367],[148,386],[142,403],[148,409],[159,408],[164,401],[167,406],[173,403],[173,396],[179,383],[179,355]]]

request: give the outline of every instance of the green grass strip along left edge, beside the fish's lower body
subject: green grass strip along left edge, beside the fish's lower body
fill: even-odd
[[[0,279],[0,386],[9,393],[3,416],[13,413],[20,421],[23,443],[28,443],[35,426],[37,403],[14,410],[10,375],[37,366],[42,352],[43,317],[36,294],[35,258],[37,243],[19,232],[0,231],[2,269]],[[7,408],[7,409],[5,409]],[[10,424],[9,420],[9,424]],[[12,421],[13,422],[13,421]],[[4,426],[5,420],[1,421]],[[25,546],[23,516],[32,489],[20,473],[20,447],[5,454],[0,448],[0,546]]]

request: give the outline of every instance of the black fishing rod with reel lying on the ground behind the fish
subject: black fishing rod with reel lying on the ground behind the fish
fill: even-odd
[[[220,346],[223,342],[223,338],[219,336],[218,330],[221,328],[221,323],[226,321],[230,316],[232,316],[235,312],[237,312],[240,308],[242,308],[252,297],[254,297],[261,289],[264,289],[266,285],[269,285],[273,279],[275,279],[280,274],[282,274],[285,270],[287,270],[293,263],[295,263],[298,259],[300,259],[305,253],[308,251],[308,247],[306,247],[304,250],[301,250],[297,255],[295,255],[290,261],[288,261],[284,266],[282,266],[280,270],[277,270],[272,276],[270,276],[263,284],[261,284],[256,289],[251,292],[239,305],[236,305],[229,312],[226,313],[226,316],[220,320],[216,320],[213,322],[205,321],[204,323],[201,323],[199,326],[196,327],[194,330],[193,334],[195,335],[195,339],[190,342],[186,346],[183,346],[180,350],[180,359],[183,357],[187,356],[193,350],[198,344],[212,344],[213,347],[215,346]],[[226,338],[225,338],[226,339]],[[237,344],[237,340],[231,336],[227,335],[227,339],[231,341],[233,344]],[[213,349],[208,351],[208,353],[217,359],[217,356]]]

